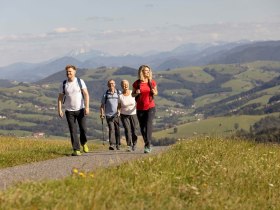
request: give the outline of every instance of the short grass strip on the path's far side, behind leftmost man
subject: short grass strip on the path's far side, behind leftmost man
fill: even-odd
[[[89,142],[89,149],[100,146]],[[70,140],[0,137],[0,168],[70,155]]]

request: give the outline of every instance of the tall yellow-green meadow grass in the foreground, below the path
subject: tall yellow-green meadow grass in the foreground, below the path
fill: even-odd
[[[279,209],[280,150],[193,138],[157,156],[0,193],[0,209]]]

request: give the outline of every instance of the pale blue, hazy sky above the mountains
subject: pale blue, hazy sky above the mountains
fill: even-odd
[[[72,50],[111,55],[187,43],[280,40],[279,0],[0,0],[0,66]]]

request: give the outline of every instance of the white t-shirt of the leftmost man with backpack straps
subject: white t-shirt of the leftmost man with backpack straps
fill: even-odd
[[[86,89],[87,87],[84,80],[80,80],[82,89]],[[63,93],[63,84],[61,84],[60,86],[60,93]],[[72,82],[68,82],[68,80],[66,80],[64,107],[68,111],[78,111],[85,108],[84,98],[82,96],[81,88],[76,77]]]

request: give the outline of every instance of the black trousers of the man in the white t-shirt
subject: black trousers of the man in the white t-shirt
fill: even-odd
[[[80,143],[82,145],[87,143],[85,110],[84,109],[78,111],[66,110],[65,115],[70,131],[72,147],[74,150],[80,150]],[[77,123],[80,129],[80,140],[78,139]]]

